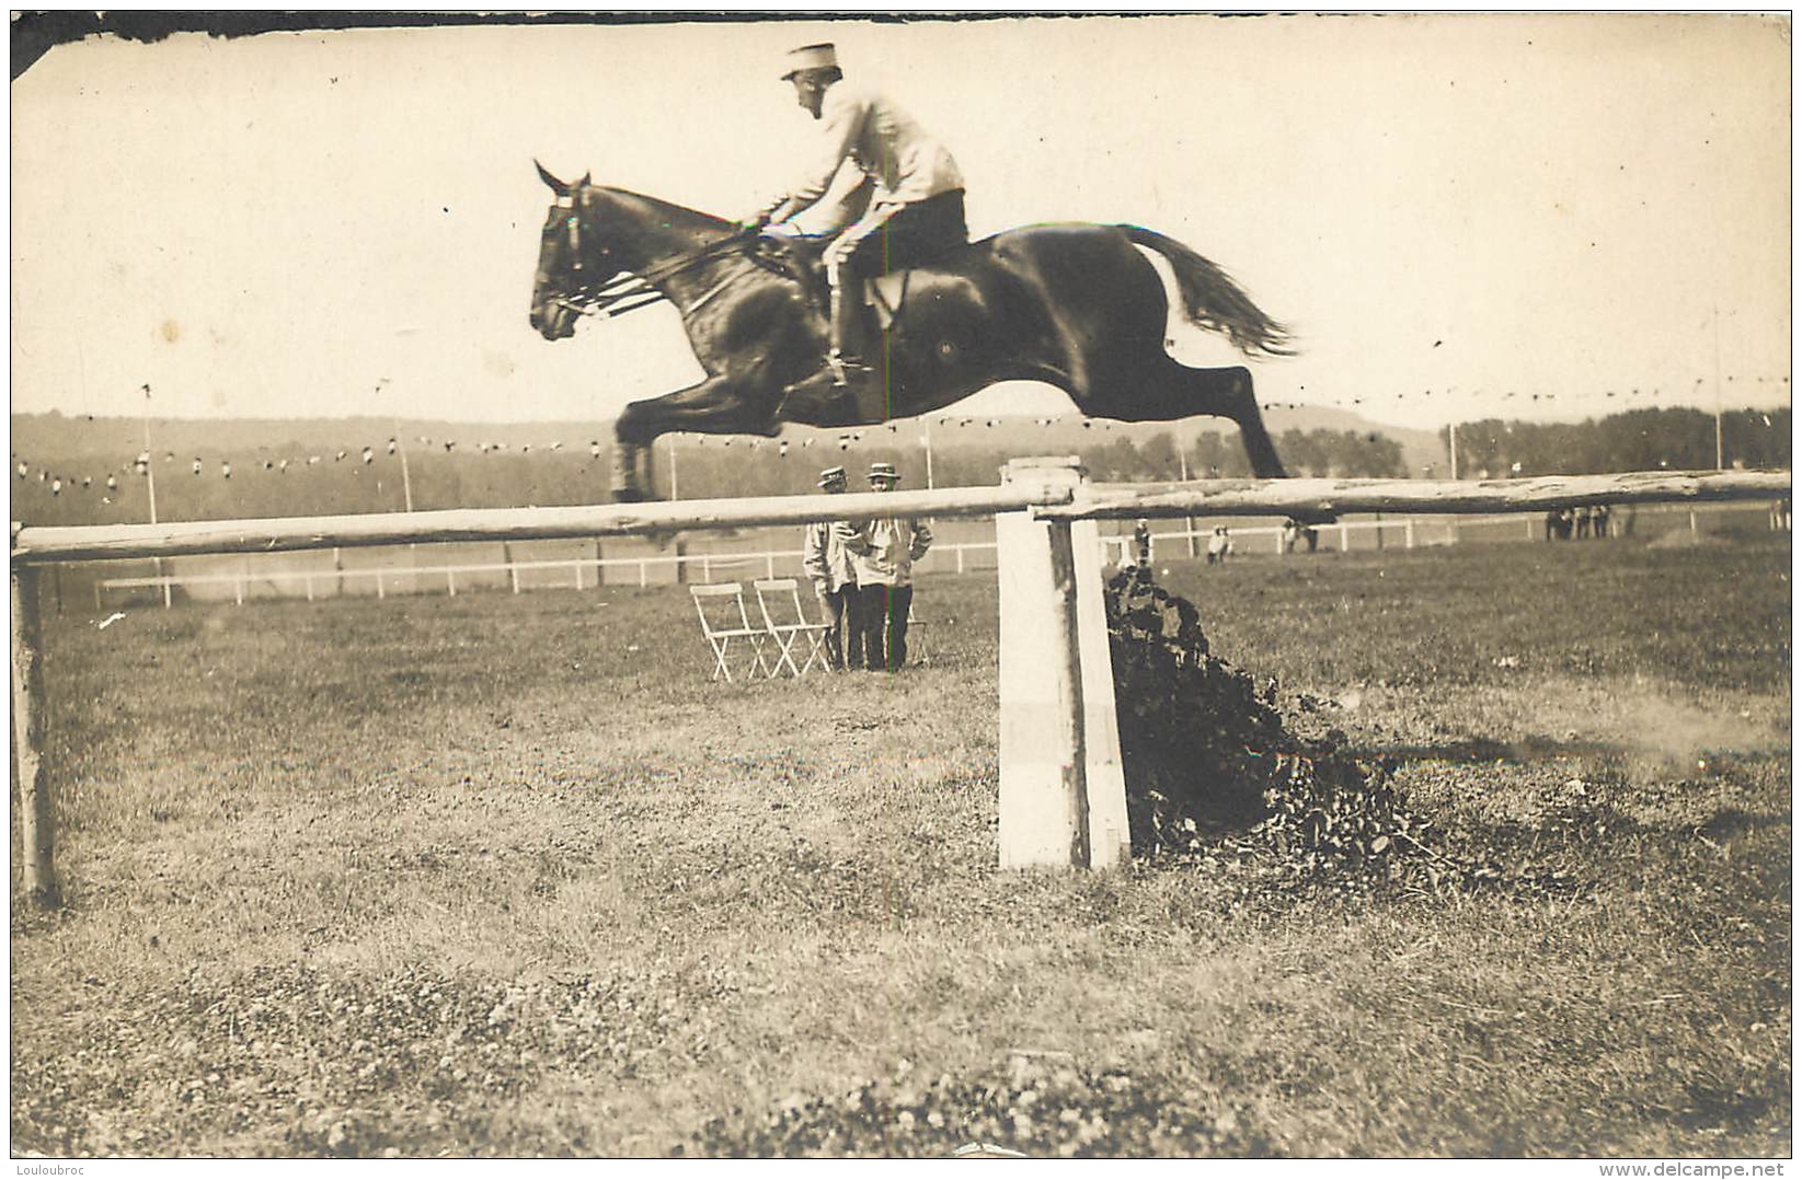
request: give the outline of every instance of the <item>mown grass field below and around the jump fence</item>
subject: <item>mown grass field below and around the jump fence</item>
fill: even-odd
[[[923,580],[930,667],[730,686],[674,587],[52,618],[13,1146],[1789,1155],[1789,569],[1171,567],[1557,890],[997,870],[984,575]]]

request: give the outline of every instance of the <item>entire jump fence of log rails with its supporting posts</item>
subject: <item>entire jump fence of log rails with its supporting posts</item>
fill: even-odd
[[[1631,472],[1476,483],[1211,479],[1090,485],[1076,458],[1033,458],[1011,461],[995,488],[77,528],[13,522],[13,757],[23,886],[32,904],[59,904],[52,784],[43,760],[47,708],[38,614],[40,573],[56,562],[667,535],[876,513],[993,515],[1000,566],[1000,865],[1108,868],[1126,859],[1128,832],[1097,521],[1501,513],[1568,504],[1788,499],[1789,492],[1789,472]]]

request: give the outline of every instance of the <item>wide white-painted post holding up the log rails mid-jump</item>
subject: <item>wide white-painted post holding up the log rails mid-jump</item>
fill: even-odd
[[[1069,459],[1015,459],[1006,481],[1081,481]],[[1128,854],[1126,785],[1101,602],[1101,533],[995,517],[1000,584],[1000,863],[1106,868]]]

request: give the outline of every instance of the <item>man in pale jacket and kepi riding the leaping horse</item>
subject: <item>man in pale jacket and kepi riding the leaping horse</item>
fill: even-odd
[[[964,177],[951,153],[887,94],[845,81],[833,45],[791,50],[782,79],[795,83],[796,103],[825,123],[825,144],[802,182],[746,216],[741,229],[757,231],[773,222],[771,232],[802,236],[791,218],[825,196],[840,166],[851,160],[863,171],[852,195],[852,209],[861,209],[861,216],[849,229],[834,225],[838,236],[825,250],[833,319],[827,364],[834,384],[849,386],[870,369],[856,340],[861,292],[847,294],[847,281],[861,285],[861,279],[964,245],[969,240]]]

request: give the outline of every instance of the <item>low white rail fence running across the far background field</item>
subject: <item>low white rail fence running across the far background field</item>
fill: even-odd
[[[1708,512],[1746,512],[1746,504],[1732,503],[1703,503],[1690,506],[1651,506],[1652,510],[1665,512],[1687,512],[1688,513],[1688,531],[1697,533],[1701,530],[1697,513]],[[1393,517],[1393,519],[1371,519],[1371,521],[1335,521],[1332,524],[1321,524],[1315,530],[1317,544],[1324,551],[1352,551],[1352,537],[1366,535],[1375,537],[1375,546],[1382,548],[1388,540],[1400,537],[1404,549],[1413,549],[1416,546],[1445,546],[1458,544],[1463,530],[1479,528],[1499,528],[1508,526],[1519,530],[1524,522],[1524,539],[1539,540],[1543,537],[1543,521],[1537,515],[1523,513],[1499,513],[1499,515],[1463,515],[1463,517]],[[1611,528],[1618,535],[1622,530],[1622,521],[1613,521]],[[1779,513],[1773,506],[1770,512],[1770,528],[1788,528],[1788,515]],[[1279,524],[1260,524],[1260,526],[1242,526],[1231,530],[1233,551],[1234,555],[1249,553],[1276,553],[1283,555],[1287,530]],[[1162,549],[1162,560],[1171,560],[1169,546],[1177,546],[1179,551],[1175,558],[1195,558],[1200,557],[1207,548],[1209,531],[1202,528],[1182,528],[1177,531],[1155,531],[1151,533],[1151,558],[1159,560],[1159,551]],[[1251,539],[1258,539],[1258,544],[1251,544]],[[1335,544],[1337,542],[1337,544]],[[915,564],[917,573],[966,573],[969,569],[993,569],[993,557],[987,562],[977,562],[969,555],[993,555],[993,540],[957,540],[957,542],[939,542],[935,544],[924,558]],[[1101,535],[1101,560],[1112,566],[1124,566],[1133,558],[1133,539],[1128,533],[1119,535]],[[505,548],[505,544],[503,544]],[[1303,551],[1305,544],[1297,544],[1296,551]],[[137,591],[137,589],[160,589],[164,605],[173,604],[173,596],[168,593],[171,589],[191,589],[207,585],[229,585],[232,587],[232,602],[243,605],[247,598],[252,598],[252,589],[258,585],[272,585],[278,596],[305,596],[306,602],[315,602],[319,596],[335,596],[342,593],[348,584],[373,585],[377,598],[387,598],[389,593],[396,595],[418,595],[418,593],[436,593],[441,585],[443,591],[456,598],[458,578],[463,576],[463,589],[485,589],[476,587],[469,582],[474,575],[506,575],[508,589],[515,595],[526,589],[551,589],[555,585],[568,585],[571,589],[598,589],[600,585],[633,585],[638,587],[652,585],[652,569],[670,569],[672,582],[712,582],[715,571],[739,571],[744,566],[759,566],[762,576],[787,576],[804,575],[802,569],[802,551],[800,549],[764,549],[755,553],[670,553],[670,555],[643,555],[643,557],[568,557],[568,558],[523,558],[523,560],[499,560],[499,562],[440,562],[431,566],[384,566],[369,569],[342,569],[339,567],[339,555],[333,551],[333,569],[287,569],[276,567],[272,562],[261,562],[258,567],[247,564],[243,569],[234,573],[168,573],[162,576],[124,576],[124,578],[101,578],[94,584],[94,609],[105,609],[108,605],[106,595],[114,591]],[[627,571],[625,580],[609,578],[605,571]],[[555,580],[546,582],[533,578],[532,575],[564,571],[568,582]],[[324,587],[332,587],[330,593]],[[223,600],[223,598],[220,598]]]

